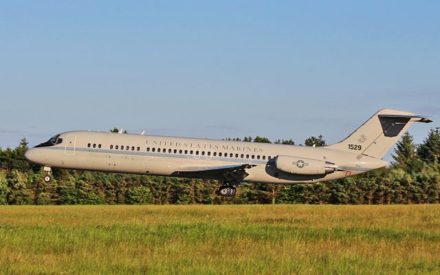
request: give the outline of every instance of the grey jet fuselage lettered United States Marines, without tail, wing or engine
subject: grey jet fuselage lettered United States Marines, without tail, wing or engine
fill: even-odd
[[[358,175],[388,164],[382,159],[326,147],[94,131],[61,133],[57,138],[62,142],[31,148],[26,157],[54,168],[162,176],[175,175],[176,171],[187,167],[252,164],[246,170],[249,175],[243,181],[272,184],[327,181]],[[307,156],[309,159],[333,162],[340,170],[327,175],[287,173],[276,168],[278,155]]]

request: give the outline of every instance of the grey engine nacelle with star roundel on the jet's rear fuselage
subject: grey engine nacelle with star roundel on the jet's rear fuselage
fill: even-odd
[[[298,175],[325,175],[333,173],[338,167],[332,162],[290,155],[278,155],[275,166],[278,170]]]

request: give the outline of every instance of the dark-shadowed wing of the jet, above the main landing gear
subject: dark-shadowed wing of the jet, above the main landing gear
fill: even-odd
[[[248,177],[246,169],[252,168],[255,164],[239,164],[228,166],[192,166],[184,167],[175,171],[175,177],[201,177],[206,179],[219,179],[225,181],[239,182]]]

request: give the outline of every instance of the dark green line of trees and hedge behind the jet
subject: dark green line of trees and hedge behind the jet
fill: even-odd
[[[272,143],[259,136],[225,140]],[[273,143],[295,144],[292,139]],[[319,135],[307,138],[304,145],[326,144]],[[206,179],[54,169],[54,179],[47,183],[43,168],[25,159],[26,150],[25,138],[15,148],[0,148],[0,204],[388,204],[440,200],[440,128],[430,129],[421,144],[405,133],[389,167],[319,184],[248,183],[237,188],[236,197],[217,195],[219,182]]]

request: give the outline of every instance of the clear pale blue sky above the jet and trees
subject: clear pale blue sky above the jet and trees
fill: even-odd
[[[1,1],[0,146],[113,126],[328,143],[440,118],[439,1]],[[421,142],[432,124],[410,132]],[[388,156],[389,158],[389,156]]]

